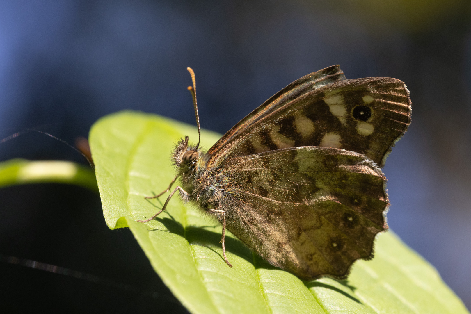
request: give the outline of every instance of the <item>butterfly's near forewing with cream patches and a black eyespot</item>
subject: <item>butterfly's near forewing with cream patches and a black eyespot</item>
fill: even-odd
[[[410,121],[411,101],[402,81],[381,77],[338,81],[245,121],[235,136],[222,137],[224,146],[221,139],[210,149],[208,165],[287,147],[323,146],[362,153],[383,166]]]

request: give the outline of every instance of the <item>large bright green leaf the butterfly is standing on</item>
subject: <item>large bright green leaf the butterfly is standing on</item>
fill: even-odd
[[[121,112],[92,127],[90,145],[106,223],[129,226],[155,271],[192,313],[468,313],[437,271],[392,233],[376,239],[375,258],[357,261],[347,281],[303,282],[268,265],[232,234],[229,268],[219,244],[221,226],[198,209],[171,199],[168,212],[146,224],[165,201],[174,177],[177,139],[198,139],[195,127],[156,115]],[[202,130],[206,148],[220,136]]]

